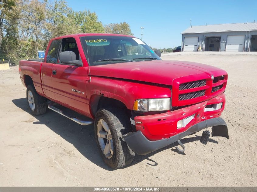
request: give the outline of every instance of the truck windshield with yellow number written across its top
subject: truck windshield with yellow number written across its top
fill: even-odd
[[[84,36],[81,43],[90,66],[160,60],[143,41],[125,36]]]

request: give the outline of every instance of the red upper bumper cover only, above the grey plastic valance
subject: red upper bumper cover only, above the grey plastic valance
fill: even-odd
[[[222,102],[221,109],[206,111],[205,108],[212,104]],[[143,115],[134,117],[135,127],[137,131],[141,131],[143,135],[151,141],[168,139],[189,129],[189,127],[200,123],[204,120],[220,117],[226,103],[225,94],[222,93],[210,100],[187,106],[182,109],[160,113],[155,115]],[[194,116],[193,120],[183,126],[177,128],[179,120],[189,116]]]

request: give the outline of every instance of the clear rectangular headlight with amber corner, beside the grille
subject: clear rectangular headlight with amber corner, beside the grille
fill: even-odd
[[[167,111],[170,109],[170,98],[138,99],[135,101],[135,111]]]

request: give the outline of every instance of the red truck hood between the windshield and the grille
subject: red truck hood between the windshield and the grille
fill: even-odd
[[[226,71],[201,63],[187,61],[141,61],[123,62],[108,65],[90,66],[92,76],[130,79],[163,85],[172,85],[176,78],[206,73],[207,76],[220,76]],[[192,79],[196,80],[196,79]]]

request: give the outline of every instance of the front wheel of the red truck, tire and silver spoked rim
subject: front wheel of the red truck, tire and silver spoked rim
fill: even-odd
[[[107,125],[109,127],[109,131],[106,131],[106,127],[104,128],[102,124],[104,124],[105,126]],[[103,132],[100,131],[101,126]],[[123,111],[122,109],[99,109],[96,113],[96,143],[100,150],[103,161],[113,169],[118,169],[126,166],[130,164],[134,159],[135,152],[130,149],[130,147],[127,145],[122,137],[123,134],[130,132],[130,127],[130,120],[125,115],[125,111]],[[104,134],[105,138],[103,136]],[[111,150],[110,153],[106,153],[108,150],[105,151],[105,147],[109,143]]]

